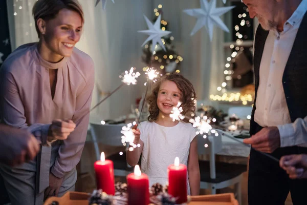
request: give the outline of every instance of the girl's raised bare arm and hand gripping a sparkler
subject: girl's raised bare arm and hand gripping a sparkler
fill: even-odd
[[[134,140],[134,144],[140,144],[141,147],[137,147],[137,148],[134,148],[133,151],[127,151],[127,154],[126,154],[126,160],[127,160],[127,163],[131,166],[131,167],[134,167],[138,164],[139,162],[139,159],[140,159],[140,156],[141,156],[141,153],[143,151],[143,146],[144,146],[144,143],[143,141],[140,139],[140,135],[141,135],[141,132],[139,129],[134,129],[134,134],[135,134],[135,140]],[[129,146],[131,147],[131,146]]]

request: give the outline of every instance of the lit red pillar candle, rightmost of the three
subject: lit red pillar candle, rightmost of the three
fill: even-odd
[[[173,165],[168,166],[168,193],[177,198],[177,203],[187,202],[187,166],[175,158]]]

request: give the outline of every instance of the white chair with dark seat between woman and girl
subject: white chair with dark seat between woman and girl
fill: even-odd
[[[121,143],[122,134],[120,131],[122,130],[122,127],[125,126],[124,124],[102,125],[99,123],[90,122],[90,125],[90,132],[94,141],[97,160],[100,160],[101,153],[98,147],[98,142],[108,146],[123,146]],[[126,162],[126,152],[123,152],[122,155],[116,153],[106,158],[113,161],[115,176],[126,176],[127,174],[133,172],[133,168],[131,168]]]

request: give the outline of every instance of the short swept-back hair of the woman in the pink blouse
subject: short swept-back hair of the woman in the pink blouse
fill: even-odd
[[[37,20],[39,18],[42,18],[45,21],[53,19],[62,9],[77,12],[81,16],[82,24],[84,23],[83,10],[78,0],[38,0],[32,9],[38,37],[40,37],[40,32],[37,26]]]

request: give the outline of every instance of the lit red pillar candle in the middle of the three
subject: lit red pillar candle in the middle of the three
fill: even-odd
[[[149,180],[141,173],[140,167],[135,166],[134,173],[127,176],[128,205],[149,204]]]

